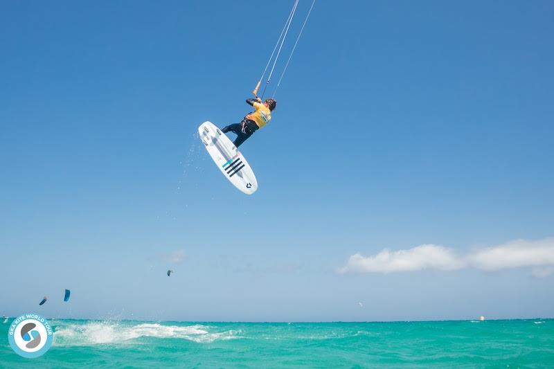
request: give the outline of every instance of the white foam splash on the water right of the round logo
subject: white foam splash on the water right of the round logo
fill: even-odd
[[[129,323],[95,321],[69,323],[55,328],[54,344],[60,346],[83,346],[102,344],[136,343],[143,337],[157,339],[186,339],[198,343],[236,339],[240,332],[208,332],[204,325],[163,325],[159,323]]]

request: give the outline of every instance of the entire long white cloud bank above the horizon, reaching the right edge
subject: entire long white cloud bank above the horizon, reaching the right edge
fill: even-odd
[[[412,249],[383,251],[376,255],[351,255],[339,273],[393,273],[438,269],[450,271],[475,267],[485,271],[498,271],[530,267],[539,278],[554,273],[554,238],[526,241],[515,240],[498,246],[476,249],[458,257],[453,249],[434,244],[423,244]]]

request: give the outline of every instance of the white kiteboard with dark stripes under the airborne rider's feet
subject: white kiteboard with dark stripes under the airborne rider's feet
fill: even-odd
[[[202,123],[198,127],[198,133],[217,168],[220,168],[223,175],[236,188],[247,195],[252,195],[258,190],[258,181],[252,168],[229,137],[211,122]]]

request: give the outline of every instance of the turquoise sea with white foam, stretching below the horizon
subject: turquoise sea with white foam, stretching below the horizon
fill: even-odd
[[[10,322],[9,322],[10,323]],[[51,319],[37,359],[8,344],[0,368],[554,368],[554,319],[190,323]]]

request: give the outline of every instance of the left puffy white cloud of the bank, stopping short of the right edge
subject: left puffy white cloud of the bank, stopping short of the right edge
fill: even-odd
[[[350,256],[348,264],[339,269],[349,271],[393,273],[395,271],[418,271],[422,269],[454,270],[464,267],[451,249],[434,244],[423,244],[413,249],[388,251],[384,249],[374,256],[364,257],[359,253]]]

